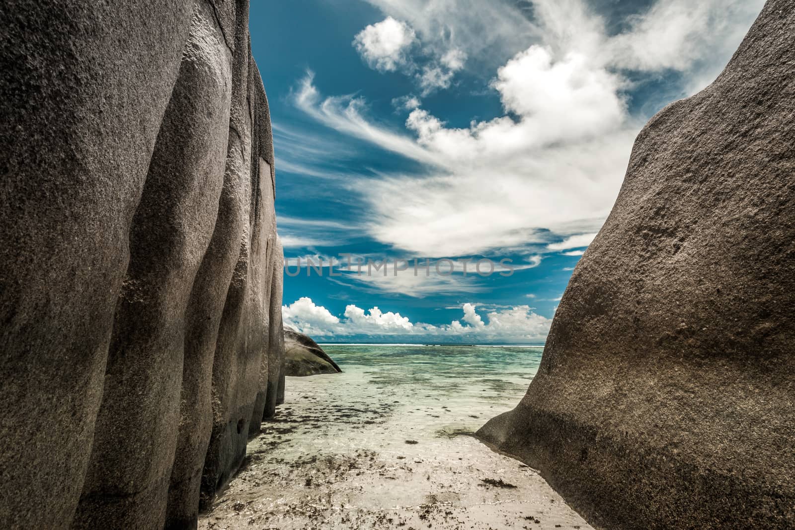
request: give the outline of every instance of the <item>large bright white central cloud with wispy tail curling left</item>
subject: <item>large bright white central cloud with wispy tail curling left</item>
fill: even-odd
[[[494,86],[519,114],[467,129],[448,128],[415,109],[411,138],[368,122],[361,105],[324,99],[303,108],[338,130],[428,164],[429,175],[397,175],[357,188],[373,211],[370,235],[421,255],[460,256],[545,242],[598,228],[610,211],[629,157],[629,126],[619,82],[581,56],[553,63],[534,47],[509,61]],[[555,104],[545,106],[553,98]],[[531,204],[531,206],[529,206]]]

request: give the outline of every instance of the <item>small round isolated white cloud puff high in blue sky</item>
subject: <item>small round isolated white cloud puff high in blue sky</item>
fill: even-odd
[[[405,51],[413,41],[414,31],[409,25],[386,17],[359,32],[353,44],[370,68],[394,72],[406,64]]]

